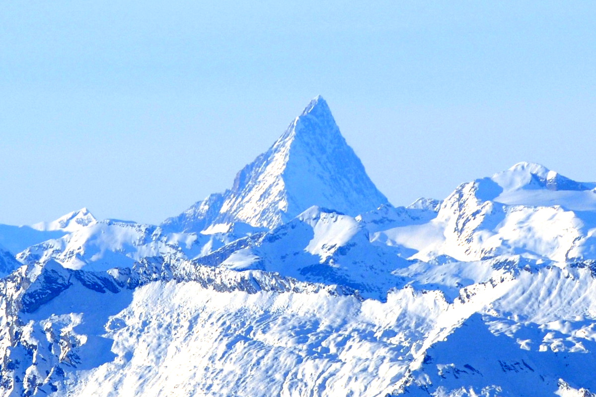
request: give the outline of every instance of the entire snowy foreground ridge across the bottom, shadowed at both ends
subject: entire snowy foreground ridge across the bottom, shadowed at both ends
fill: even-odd
[[[402,271],[410,286],[380,302],[162,258],[108,273],[21,267],[3,284],[3,395],[593,390],[582,371],[596,343],[590,265],[511,270],[498,261],[412,264]],[[446,271],[459,280],[455,299],[430,288]]]

